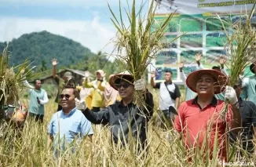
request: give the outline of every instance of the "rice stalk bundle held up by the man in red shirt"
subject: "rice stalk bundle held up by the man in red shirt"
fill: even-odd
[[[240,72],[247,67],[248,64],[254,60],[255,56],[255,47],[254,42],[256,42],[256,32],[254,27],[251,26],[251,18],[254,13],[254,7],[251,9],[251,13],[249,15],[245,14],[240,16],[240,20],[237,20],[232,24],[228,23],[231,26],[232,34],[229,35],[228,31],[225,27],[225,20],[221,20],[222,27],[224,28],[224,32],[226,34],[227,43],[225,48],[227,50],[227,54],[229,56],[229,80],[227,81],[227,85],[233,86],[236,84],[237,79],[240,76]],[[228,111],[228,103],[229,101],[225,101],[225,109],[222,112],[222,115],[225,116]]]

